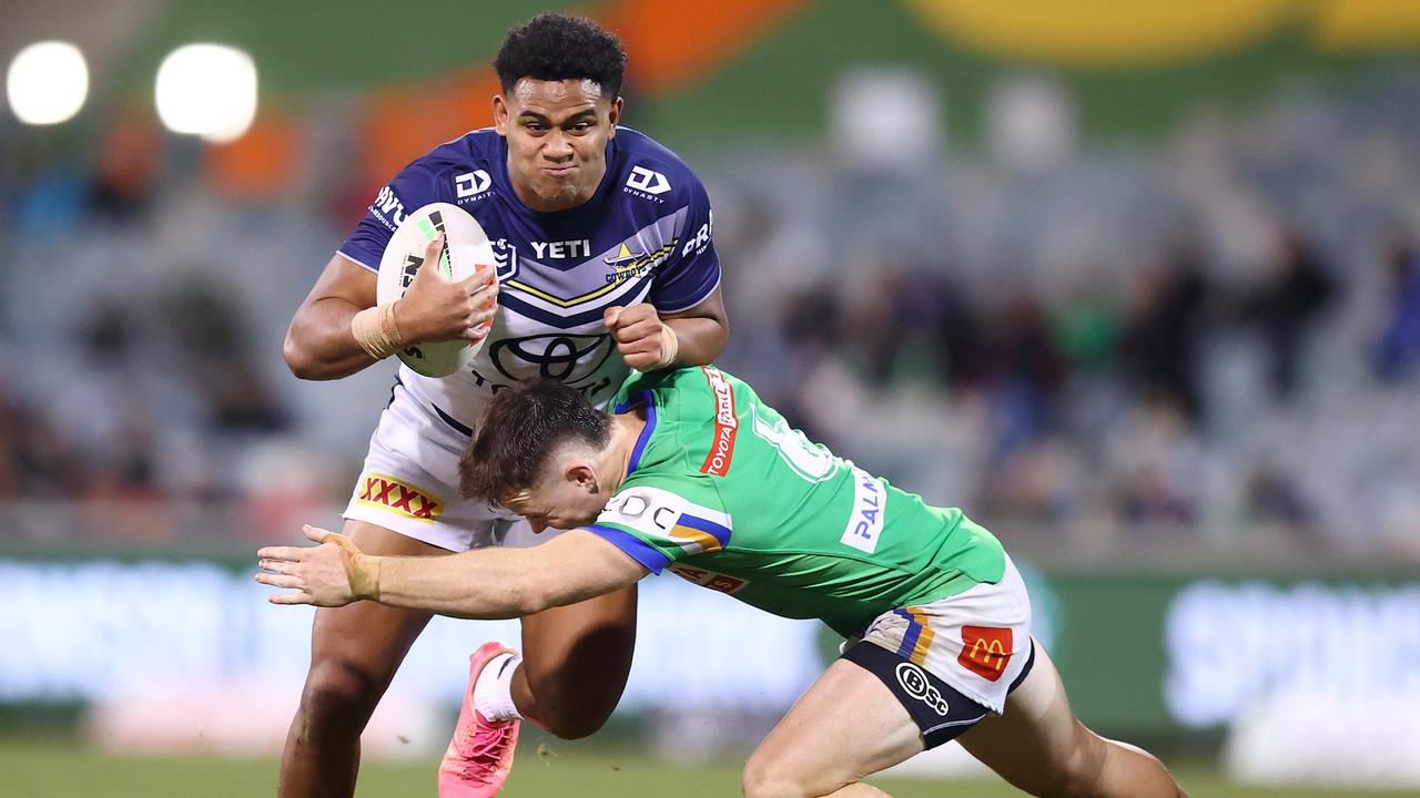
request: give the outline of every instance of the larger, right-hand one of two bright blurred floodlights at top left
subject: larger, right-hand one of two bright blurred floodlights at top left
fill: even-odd
[[[175,133],[223,143],[241,138],[257,115],[257,65],[224,44],[186,44],[158,67],[158,116]]]

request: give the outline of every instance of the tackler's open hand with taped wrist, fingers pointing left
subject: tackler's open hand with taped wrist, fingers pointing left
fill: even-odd
[[[273,594],[267,601],[345,606],[362,598],[375,598],[378,567],[372,568],[371,558],[365,557],[359,547],[345,535],[318,527],[305,525],[301,531],[321,545],[308,548],[268,545],[257,551],[261,567],[261,572],[256,575],[257,582],[294,591]]]

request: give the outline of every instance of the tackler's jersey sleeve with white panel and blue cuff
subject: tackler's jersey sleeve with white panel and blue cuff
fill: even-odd
[[[733,534],[719,494],[694,480],[628,481],[606,503],[596,523],[585,528],[652,574],[692,554],[721,551],[730,545]]]

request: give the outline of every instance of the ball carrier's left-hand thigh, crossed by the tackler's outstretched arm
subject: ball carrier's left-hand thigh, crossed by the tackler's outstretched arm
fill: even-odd
[[[420,557],[447,551],[392,532],[368,521],[348,520],[342,532],[362,551],[376,555]],[[320,690],[378,696],[393,677],[415,639],[429,623],[427,612],[396,609],[361,601],[315,611],[311,629],[311,679]]]

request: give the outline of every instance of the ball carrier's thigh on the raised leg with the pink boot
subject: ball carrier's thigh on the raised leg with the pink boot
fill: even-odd
[[[611,693],[615,704],[635,646],[635,585],[523,618],[523,667],[534,690]]]

